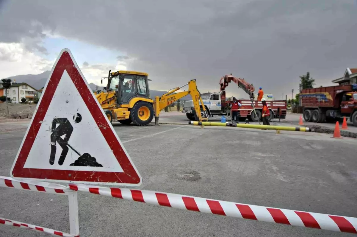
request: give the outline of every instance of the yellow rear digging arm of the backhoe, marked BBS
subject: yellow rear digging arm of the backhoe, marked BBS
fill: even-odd
[[[185,92],[178,92],[176,94],[173,94],[177,90],[181,89],[182,87],[185,87],[188,85],[188,90]],[[176,87],[174,89],[169,90],[166,94],[161,95],[161,97],[155,97],[154,100],[154,112],[155,112],[155,124],[159,125],[159,115],[160,111],[164,109],[165,107],[169,106],[170,104],[174,103],[176,100],[179,100],[186,95],[191,95],[193,105],[195,106],[195,111],[197,118],[202,122],[202,120],[208,120],[207,112],[205,106],[203,106],[203,101],[201,98],[201,93],[197,89],[196,85],[196,79],[190,80],[187,84],[183,85],[182,87]],[[201,116],[201,108],[200,108],[200,103],[202,105],[202,110],[203,113],[205,113],[205,118],[202,118]]]

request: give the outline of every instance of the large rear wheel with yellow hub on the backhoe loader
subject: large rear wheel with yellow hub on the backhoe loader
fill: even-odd
[[[130,118],[136,126],[147,126],[154,118],[154,108],[148,102],[137,102],[130,110]]]

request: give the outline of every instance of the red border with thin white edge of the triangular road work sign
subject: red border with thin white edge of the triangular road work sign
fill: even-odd
[[[57,85],[59,84],[65,70],[69,74],[72,82],[81,95],[81,98],[89,109],[90,114],[123,169],[123,172],[24,168],[27,157],[41,127],[41,121],[43,121],[46,115]],[[40,181],[46,180],[53,182],[74,182],[85,184],[111,184],[121,186],[140,186],[142,183],[139,172],[132,163],[114,128],[106,118],[99,102],[94,97],[94,94],[92,93],[69,49],[61,50],[61,53],[52,67],[49,79],[47,79],[39,103],[37,104],[34,115],[32,116],[30,125],[26,130],[25,137],[23,138],[20,149],[17,152],[15,161],[10,171],[10,176],[14,179],[34,179]]]

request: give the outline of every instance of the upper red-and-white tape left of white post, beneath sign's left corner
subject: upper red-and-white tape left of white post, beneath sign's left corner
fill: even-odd
[[[46,183],[40,181],[19,181],[10,177],[0,176],[0,187],[25,189],[29,191],[46,192],[54,194],[68,195],[69,192],[74,192],[68,187],[60,184]]]

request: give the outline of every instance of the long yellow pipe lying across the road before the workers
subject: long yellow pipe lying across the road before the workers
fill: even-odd
[[[258,124],[232,124],[232,123],[220,123],[220,122],[196,122],[190,121],[188,124],[191,125],[203,125],[203,126],[221,126],[221,127],[238,127],[238,128],[255,128],[255,129],[270,129],[270,130],[286,130],[286,131],[298,131],[298,132],[311,132],[311,129],[307,127],[286,127],[286,126],[275,126],[275,125],[258,125]]]

